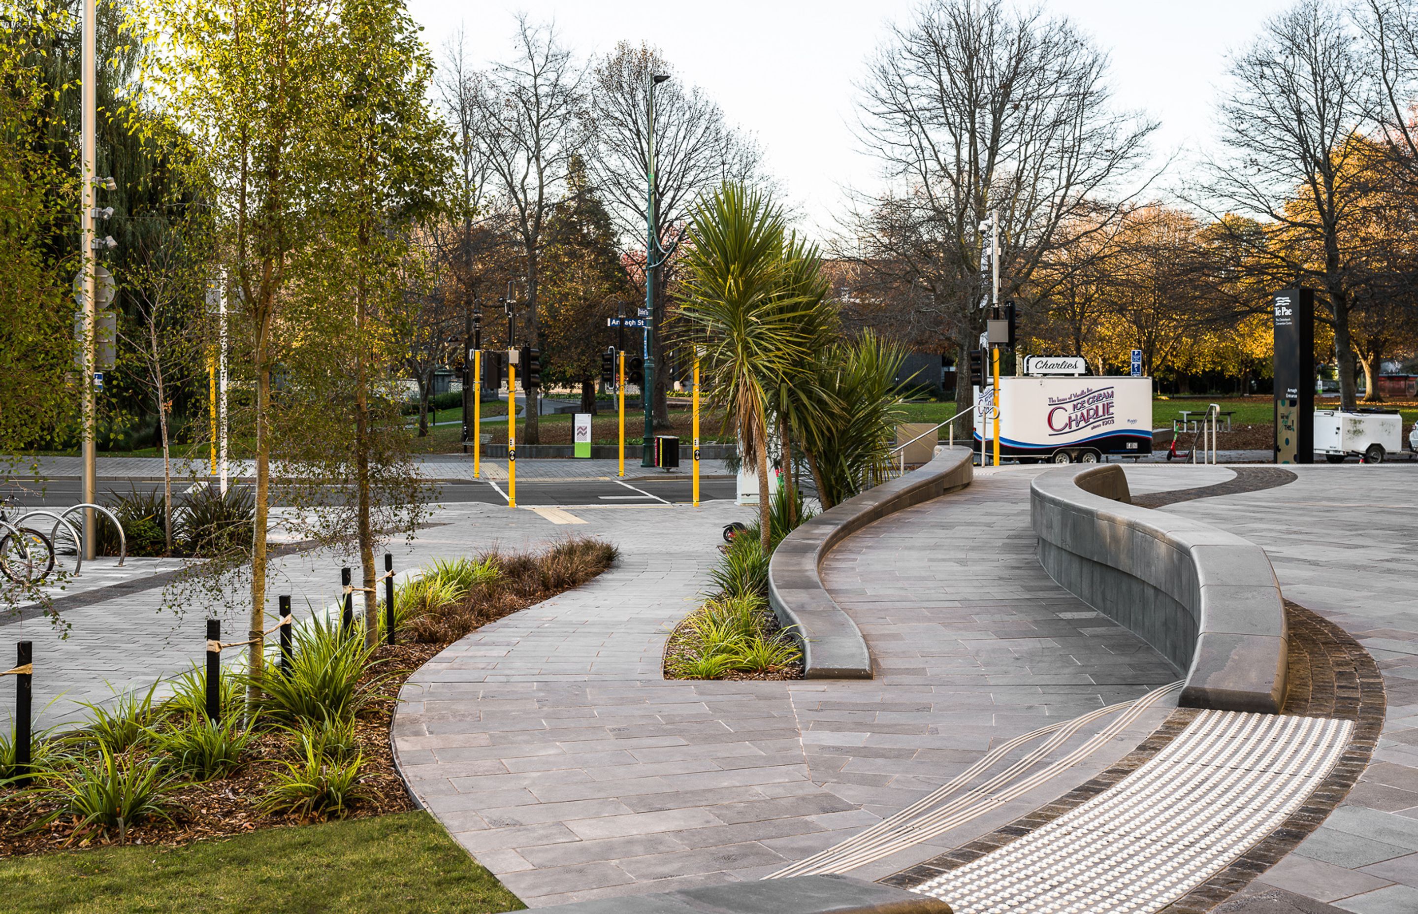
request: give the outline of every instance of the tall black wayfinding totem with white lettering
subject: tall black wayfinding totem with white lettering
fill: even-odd
[[[1314,463],[1314,291],[1275,294],[1275,463]]]

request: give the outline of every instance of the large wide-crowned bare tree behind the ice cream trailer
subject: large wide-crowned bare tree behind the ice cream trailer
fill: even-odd
[[[861,139],[895,190],[859,202],[849,234],[930,290],[960,362],[984,326],[987,214],[1000,219],[1001,295],[1014,295],[1061,226],[1132,196],[1119,183],[1156,128],[1113,109],[1107,57],[1072,23],[1003,0],[927,0],[892,28],[861,91]],[[968,402],[964,372],[956,383]]]

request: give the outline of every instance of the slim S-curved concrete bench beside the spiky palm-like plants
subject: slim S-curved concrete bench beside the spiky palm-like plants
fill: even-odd
[[[769,603],[803,649],[807,678],[871,678],[872,656],[851,616],[828,596],[818,568],[847,536],[872,521],[964,488],[970,448],[949,447],[919,470],[824,511],[783,538],[769,562]]]

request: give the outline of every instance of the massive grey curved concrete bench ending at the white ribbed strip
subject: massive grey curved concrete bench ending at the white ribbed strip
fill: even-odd
[[[1044,569],[1185,670],[1180,704],[1280,710],[1285,605],[1261,546],[1133,505],[1119,466],[1044,473],[1029,507]]]

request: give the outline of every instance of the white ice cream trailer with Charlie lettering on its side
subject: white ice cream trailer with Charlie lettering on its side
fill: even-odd
[[[974,437],[994,448],[993,393],[976,387]],[[1000,457],[1098,463],[1151,453],[1151,378],[1001,378]]]

